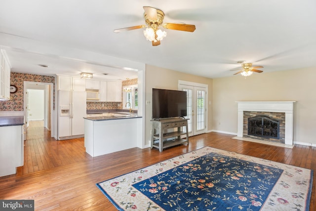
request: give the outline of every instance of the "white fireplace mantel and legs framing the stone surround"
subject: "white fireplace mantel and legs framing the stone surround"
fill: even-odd
[[[238,103],[237,136],[243,136],[243,112],[284,112],[285,144],[293,145],[293,104],[296,101],[236,101]]]

